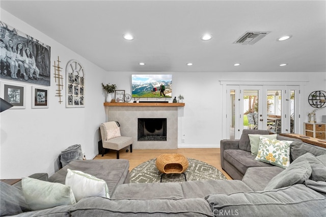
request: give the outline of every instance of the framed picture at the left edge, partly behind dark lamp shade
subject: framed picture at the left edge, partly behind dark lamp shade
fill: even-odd
[[[25,108],[25,86],[2,82],[3,99],[11,103],[14,108]]]

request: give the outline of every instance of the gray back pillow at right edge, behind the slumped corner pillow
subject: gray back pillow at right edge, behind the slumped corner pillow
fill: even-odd
[[[312,153],[308,152],[296,158],[291,164],[308,160],[312,172],[310,179],[314,181],[326,181],[326,154],[315,157]]]

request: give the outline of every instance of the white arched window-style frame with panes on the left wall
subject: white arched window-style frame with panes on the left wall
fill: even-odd
[[[66,107],[85,107],[85,72],[77,60],[67,63],[66,87]]]

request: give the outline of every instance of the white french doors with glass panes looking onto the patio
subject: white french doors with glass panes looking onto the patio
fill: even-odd
[[[300,86],[226,85],[223,137],[239,139],[243,129],[298,133]]]

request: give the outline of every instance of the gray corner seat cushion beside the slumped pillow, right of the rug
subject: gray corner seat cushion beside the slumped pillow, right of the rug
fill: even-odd
[[[251,167],[244,174],[242,181],[253,191],[264,191],[268,182],[285,169],[280,167]]]

